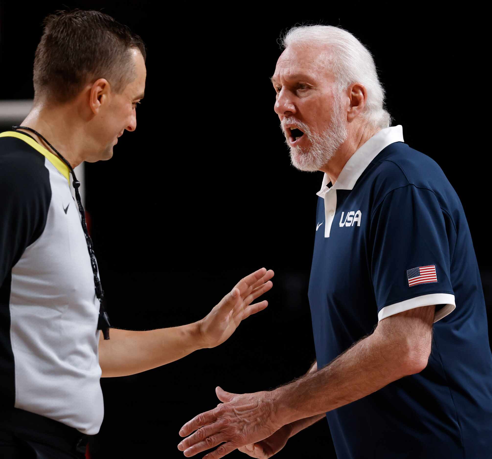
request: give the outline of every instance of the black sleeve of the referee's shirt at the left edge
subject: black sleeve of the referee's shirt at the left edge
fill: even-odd
[[[44,161],[22,140],[0,139],[0,287],[46,226],[51,187]]]

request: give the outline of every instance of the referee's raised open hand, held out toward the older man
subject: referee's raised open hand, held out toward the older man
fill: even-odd
[[[268,301],[251,304],[253,300],[273,287],[270,279],[274,272],[265,268],[241,279],[210,313],[198,322],[204,347],[215,347],[229,338],[251,314],[262,311]]]

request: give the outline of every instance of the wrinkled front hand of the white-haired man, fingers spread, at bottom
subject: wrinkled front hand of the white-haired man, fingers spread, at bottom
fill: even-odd
[[[222,458],[235,449],[270,437],[282,427],[275,419],[271,392],[231,394],[217,387],[215,393],[223,403],[195,416],[180,430],[182,437],[196,430],[178,445],[185,457],[220,445],[203,459]]]

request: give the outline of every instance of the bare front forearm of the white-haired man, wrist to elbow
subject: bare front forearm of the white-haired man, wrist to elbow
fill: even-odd
[[[328,411],[418,373],[422,368],[407,357],[407,344],[373,333],[325,368],[272,391],[278,422],[295,424],[310,418],[312,424],[315,417],[321,419]]]

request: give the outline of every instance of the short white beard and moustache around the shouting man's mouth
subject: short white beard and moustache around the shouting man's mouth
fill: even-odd
[[[345,125],[345,113],[342,111],[341,100],[336,97],[333,104],[332,119],[328,129],[321,135],[314,134],[310,131],[307,124],[295,120],[296,125],[301,128],[304,135],[310,142],[310,146],[303,148],[301,146],[290,146],[289,140],[286,143],[290,148],[290,162],[292,166],[300,171],[314,172],[319,171],[334,156],[342,143],[347,140],[347,128]],[[283,123],[292,123],[292,118],[284,118]],[[285,134],[282,123],[280,128]]]

